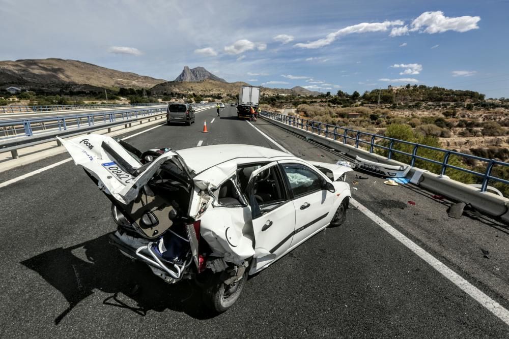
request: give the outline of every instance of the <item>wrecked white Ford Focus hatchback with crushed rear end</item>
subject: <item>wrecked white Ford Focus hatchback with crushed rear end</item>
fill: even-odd
[[[103,135],[60,141],[111,201],[111,242],[167,283],[195,280],[216,312],[238,299],[248,274],[343,223],[351,197],[351,168],[265,147],[142,153]]]

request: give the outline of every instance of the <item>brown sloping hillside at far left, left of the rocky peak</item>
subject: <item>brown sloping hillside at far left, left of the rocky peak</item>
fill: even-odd
[[[2,86],[69,88],[69,85],[77,84],[100,88],[149,88],[164,81],[77,60],[48,58],[0,61],[0,85]],[[74,89],[74,86],[71,87]]]

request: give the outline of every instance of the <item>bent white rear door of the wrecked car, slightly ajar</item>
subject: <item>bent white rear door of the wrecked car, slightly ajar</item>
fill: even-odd
[[[254,234],[250,273],[277,260],[290,248],[295,230],[295,207],[276,162],[253,171],[247,185]]]

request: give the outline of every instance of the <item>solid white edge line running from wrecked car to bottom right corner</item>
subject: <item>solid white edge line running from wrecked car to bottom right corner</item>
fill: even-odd
[[[480,291],[477,287],[470,284],[464,278],[462,278],[458,273],[451,270],[449,267],[445,266],[440,260],[433,257],[431,254],[423,250],[419,245],[415,242],[407,238],[401,232],[399,232],[394,227],[387,224],[383,221],[378,215],[361,205],[355,199],[350,199],[350,202],[353,206],[355,206],[359,211],[364,213],[366,217],[370,218],[376,224],[378,224],[381,228],[383,228],[387,233],[396,238],[399,242],[404,244],[410,251],[418,255],[422,260],[426,261],[431,267],[436,269],[440,274],[445,276],[449,281],[458,286],[463,292],[467,293],[471,296],[475,301],[483,305],[488,311],[493,313],[495,316],[500,318],[505,324],[509,325],[509,311],[504,309],[502,305],[498,302],[490,298],[488,295]]]

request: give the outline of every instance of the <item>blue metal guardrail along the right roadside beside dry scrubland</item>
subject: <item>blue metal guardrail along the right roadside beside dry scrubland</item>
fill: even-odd
[[[492,175],[492,170],[495,165],[505,166],[505,167],[509,168],[509,163],[505,163],[502,161],[498,161],[498,160],[494,160],[494,159],[487,159],[487,158],[482,158],[482,157],[476,157],[476,156],[468,155],[465,153],[456,152],[453,150],[432,147],[432,146],[428,146],[428,145],[409,142],[406,140],[389,138],[389,137],[386,137],[383,135],[362,132],[362,131],[358,131],[358,130],[352,130],[352,129],[348,129],[345,127],[325,124],[324,122],[320,122],[320,121],[308,120],[308,119],[303,119],[303,118],[299,118],[299,117],[295,117],[295,116],[288,116],[288,115],[284,115],[284,114],[278,114],[278,113],[269,112],[269,111],[262,111],[261,115],[266,116],[271,119],[274,119],[274,120],[277,120],[277,121],[280,121],[280,122],[283,122],[284,124],[289,125],[289,126],[298,127],[300,129],[303,129],[303,130],[306,130],[306,131],[309,131],[312,133],[317,133],[318,135],[323,135],[326,138],[331,138],[332,140],[335,140],[335,141],[341,141],[344,144],[348,144],[349,141],[351,141],[351,143],[354,144],[355,148],[359,148],[359,145],[369,146],[370,153],[375,153],[376,148],[387,150],[388,151],[387,159],[389,159],[389,160],[393,157],[394,153],[399,153],[399,154],[408,156],[411,158],[411,161],[409,164],[411,167],[414,167],[416,160],[422,160],[422,161],[429,162],[429,163],[432,163],[435,165],[439,165],[439,166],[441,166],[441,170],[440,170],[440,173],[437,173],[437,174],[440,174],[442,176],[446,175],[446,171],[448,168],[473,174],[475,176],[482,178],[482,184],[480,187],[481,192],[486,192],[489,180],[494,180],[494,181],[502,182],[505,184],[509,184],[509,180],[499,178],[499,177]],[[378,144],[377,141],[380,141],[380,140],[386,140],[388,142],[388,146]],[[396,145],[399,145],[399,144],[411,145],[413,147],[412,152],[409,153],[409,152],[405,152],[405,151],[394,148]],[[443,153],[443,159],[442,159],[442,161],[437,161],[434,159],[421,157],[418,155],[419,149],[430,149],[430,150],[441,152],[441,153]],[[479,173],[479,172],[473,171],[468,168],[451,165],[448,163],[451,156],[459,156],[462,158],[467,158],[467,159],[472,159],[475,161],[484,162],[487,165],[486,171],[484,173]]]

